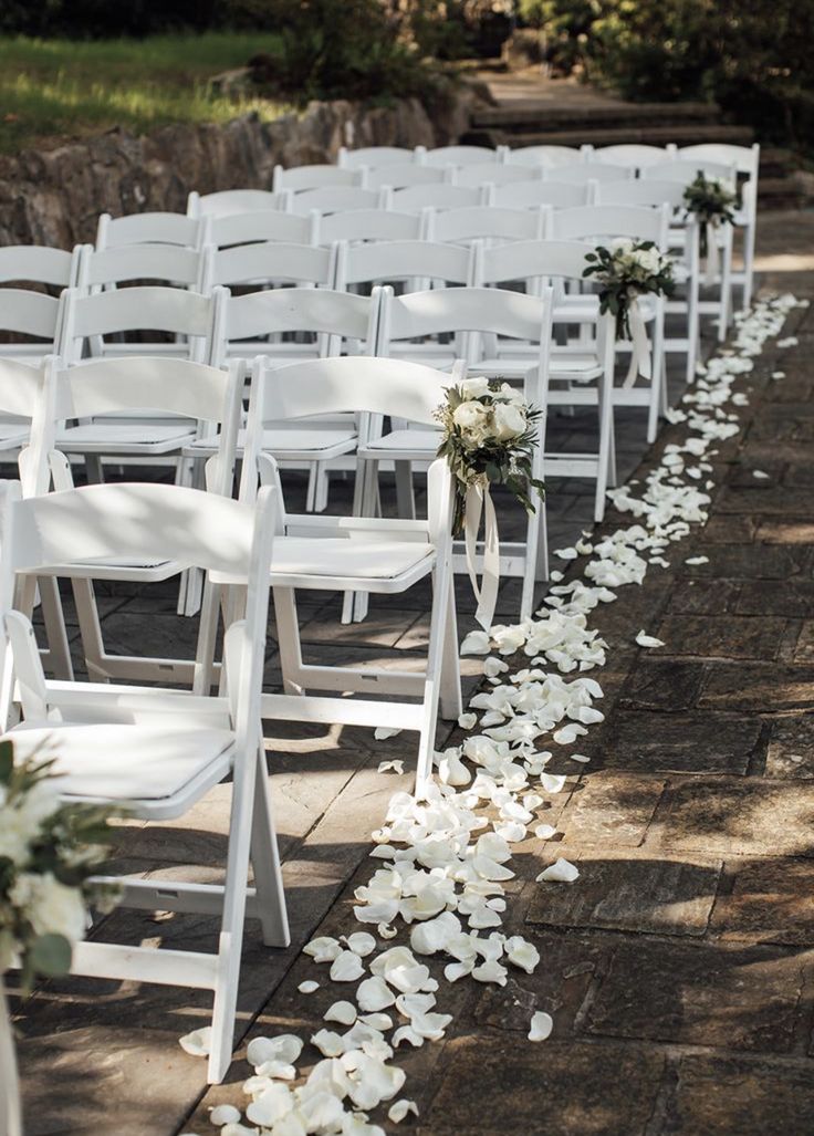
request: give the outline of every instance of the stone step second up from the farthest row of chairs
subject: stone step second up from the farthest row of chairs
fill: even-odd
[[[591,126],[633,127],[647,124],[708,123],[714,122],[719,115],[720,109],[708,102],[597,102],[557,107],[542,99],[522,99],[477,110],[472,116],[472,127],[521,131],[523,126],[534,127],[545,123],[549,131],[567,131],[584,127],[586,122]]]

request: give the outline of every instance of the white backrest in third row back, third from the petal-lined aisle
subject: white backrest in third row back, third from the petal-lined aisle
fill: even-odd
[[[66,364],[78,362],[83,348],[94,337],[121,335],[133,332],[161,332],[167,335],[185,336],[185,354],[198,362],[210,364],[212,350],[219,337],[223,318],[224,289],[213,289],[211,295],[188,292],[183,289],[145,285],[120,289],[114,292],[96,292],[83,295],[78,289],[65,293],[65,318],[62,320],[58,354]],[[133,354],[123,351],[117,343],[106,345],[108,353]],[[150,349],[139,353],[150,354]],[[166,354],[158,344],[157,354]]]

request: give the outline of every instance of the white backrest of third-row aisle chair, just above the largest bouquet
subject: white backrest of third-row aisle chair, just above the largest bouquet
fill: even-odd
[[[394,296],[383,290],[378,353],[388,354],[398,340],[470,333],[467,358],[475,361],[482,335],[540,343],[549,314],[539,296],[503,289],[434,289]]]

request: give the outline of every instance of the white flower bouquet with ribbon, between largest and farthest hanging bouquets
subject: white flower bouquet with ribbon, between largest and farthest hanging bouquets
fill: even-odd
[[[610,311],[616,321],[616,339],[630,340],[633,346],[626,385],[637,375],[652,377],[651,350],[639,296],[672,295],[675,289],[672,260],[653,241],[618,237],[610,248],[599,245],[586,253],[582,276],[593,276],[599,285],[599,311]]]

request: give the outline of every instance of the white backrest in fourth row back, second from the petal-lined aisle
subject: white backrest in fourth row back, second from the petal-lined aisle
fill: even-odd
[[[376,241],[368,244],[339,244],[336,258],[336,286],[391,284],[431,281],[440,284],[469,284],[472,277],[472,251],[437,241]]]

